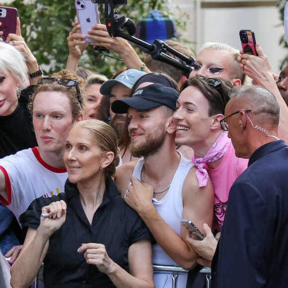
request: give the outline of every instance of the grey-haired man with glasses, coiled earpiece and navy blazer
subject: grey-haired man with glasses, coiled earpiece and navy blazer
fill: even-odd
[[[248,168],[235,180],[212,262],[212,287],[286,287],[288,146],[279,140],[280,106],[260,86],[231,93],[221,126]]]

